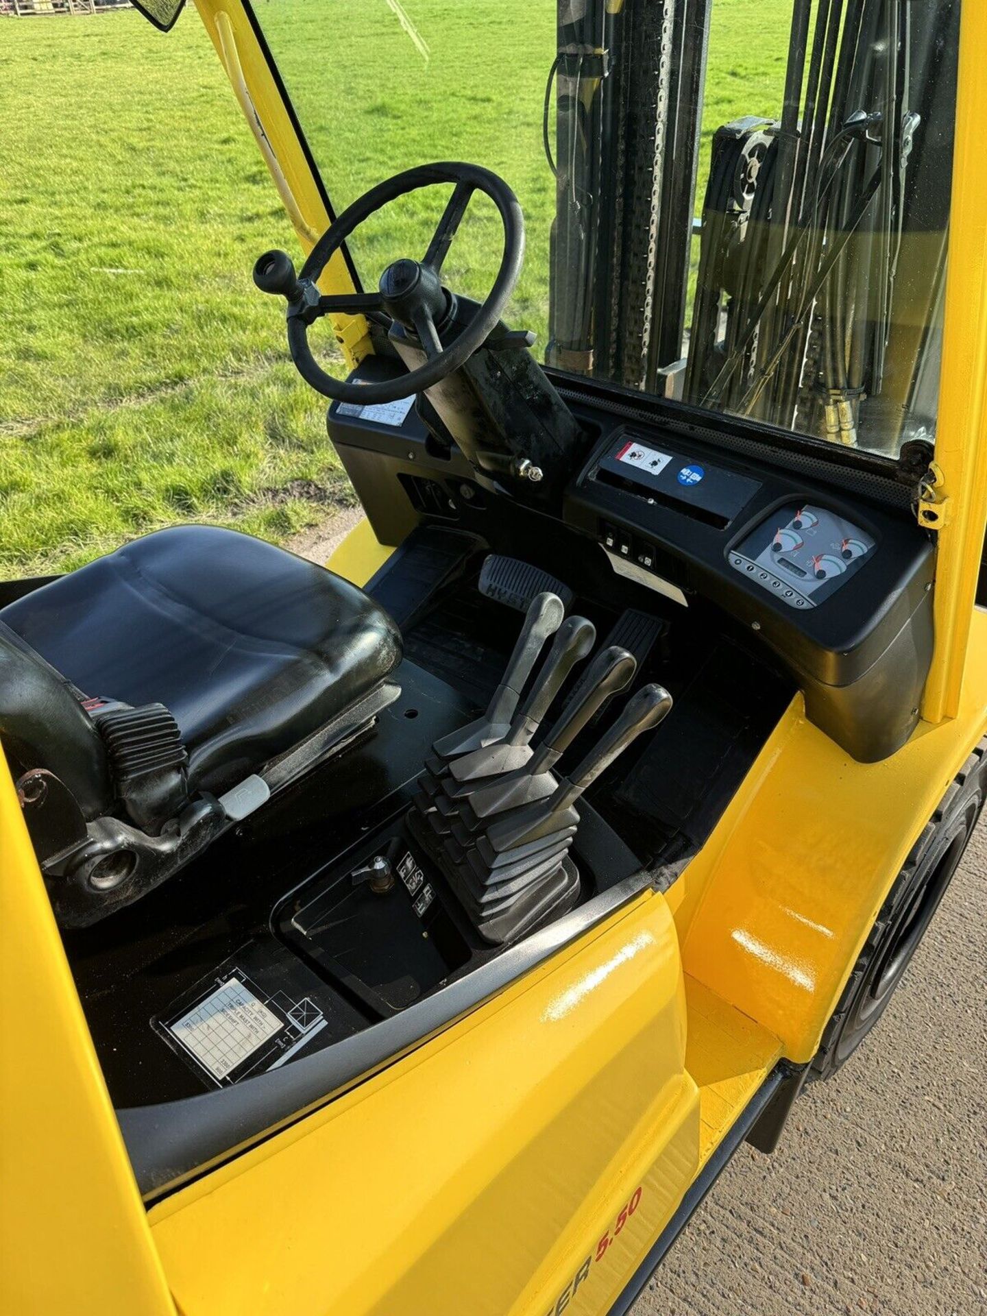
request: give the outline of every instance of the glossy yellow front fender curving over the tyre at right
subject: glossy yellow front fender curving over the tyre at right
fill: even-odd
[[[987,613],[959,716],[858,763],[799,696],[670,900],[686,973],[812,1059],[912,845],[987,728]]]

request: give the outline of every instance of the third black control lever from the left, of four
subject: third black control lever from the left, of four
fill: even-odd
[[[555,720],[545,740],[534,751],[525,767],[508,776],[491,782],[488,786],[472,788],[467,784],[454,784],[446,780],[445,790],[453,799],[468,795],[466,807],[467,824],[503,813],[505,809],[522,804],[536,804],[555,790],[557,782],[551,769],[569,749],[576,736],[594,719],[597,709],[633,680],[637,659],[626,649],[612,645],[594,658],[583,678],[583,695],[572,700]],[[472,794],[470,794],[472,791]]]

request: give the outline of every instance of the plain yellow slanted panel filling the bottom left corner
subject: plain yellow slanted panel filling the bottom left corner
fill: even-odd
[[[174,1316],[0,754],[0,1312]]]

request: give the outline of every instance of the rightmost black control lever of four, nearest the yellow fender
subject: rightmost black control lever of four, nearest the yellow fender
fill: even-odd
[[[495,865],[497,855],[534,841],[547,844],[557,832],[576,826],[579,815],[572,807],[583,791],[604,772],[637,737],[657,726],[671,711],[671,695],[663,686],[644,686],[628,700],[616,722],[604,732],[571,776],[559,776],[547,800],[519,809],[501,819],[479,837],[480,858]]]

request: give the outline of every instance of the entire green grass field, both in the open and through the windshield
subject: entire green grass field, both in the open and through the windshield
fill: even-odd
[[[257,3],[337,207],[428,159],[511,182],[528,218],[512,317],[544,342],[555,5],[405,9],[428,62],[386,0]],[[790,0],[720,9],[707,147],[738,113],[776,113]],[[0,20],[0,575],[182,520],[282,540],[347,501],[322,401],[250,280],[262,250],[297,245],[195,9],[167,37],[136,12]],[[375,280],[416,254],[440,207],[378,222],[358,263]],[[450,283],[483,291],[496,229],[478,209]]]

